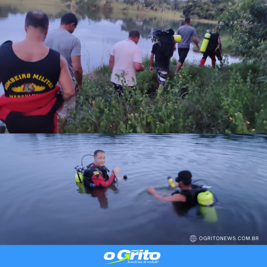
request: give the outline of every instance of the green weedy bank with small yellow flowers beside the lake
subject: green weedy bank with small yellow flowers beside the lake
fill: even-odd
[[[253,62],[221,68],[185,65],[156,93],[156,72],[138,73],[137,89],[119,98],[103,65],[84,77],[65,133],[265,133],[266,70]]]

